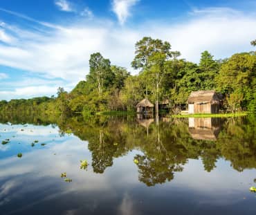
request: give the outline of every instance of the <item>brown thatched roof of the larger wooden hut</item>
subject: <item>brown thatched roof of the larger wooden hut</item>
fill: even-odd
[[[219,104],[222,95],[216,91],[194,91],[188,97],[188,103],[212,102]]]

